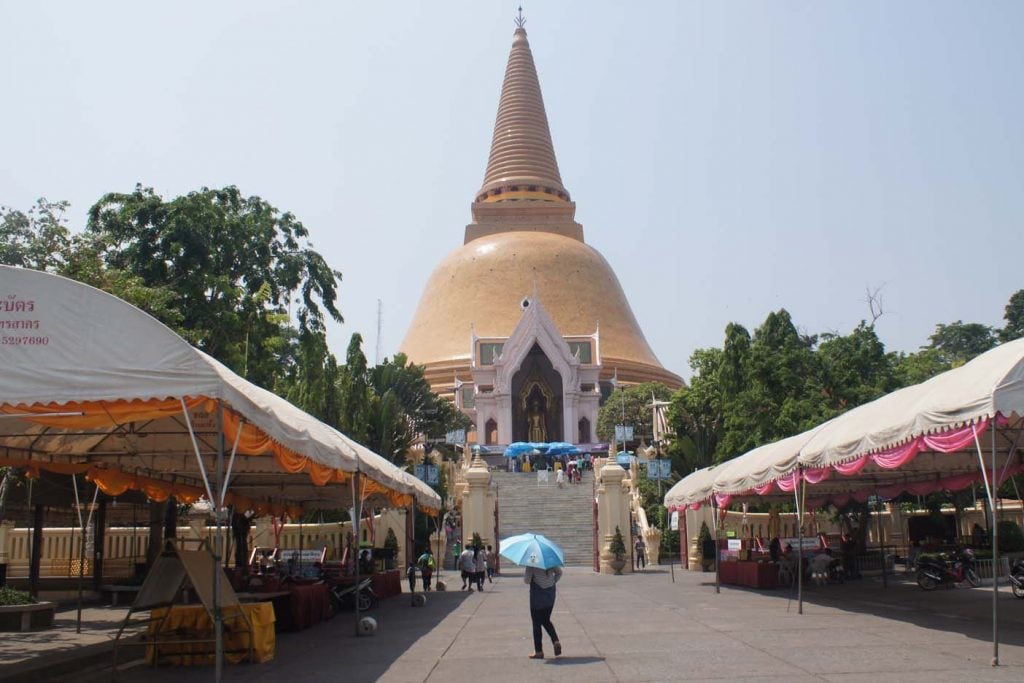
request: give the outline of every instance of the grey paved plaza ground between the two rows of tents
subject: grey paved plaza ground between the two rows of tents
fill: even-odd
[[[453,583],[458,589],[461,582]],[[224,679],[1024,680],[1024,600],[1000,595],[998,668],[989,666],[990,607],[990,589],[925,593],[902,578],[887,589],[866,579],[809,589],[801,615],[785,591],[723,588],[716,595],[713,574],[677,570],[673,583],[668,567],[632,577],[570,568],[553,615],[563,654],[553,657],[546,643],[549,658],[535,661],[526,658],[532,649],[527,589],[514,570],[482,594],[432,593],[417,608],[408,596],[388,600],[373,612],[379,629],[371,637],[355,637],[345,613],[307,631],[280,634],[273,661],[227,666]],[[212,678],[209,667],[139,667],[119,680]]]

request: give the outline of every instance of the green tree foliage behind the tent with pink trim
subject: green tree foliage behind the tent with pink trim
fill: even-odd
[[[1006,321],[1002,330],[937,325],[912,353],[887,352],[866,322],[845,335],[802,334],[784,309],[753,335],[731,323],[721,348],[690,356],[693,376],[672,397],[670,425],[691,446],[687,465],[721,463],[1024,336],[1024,290],[1010,298]]]

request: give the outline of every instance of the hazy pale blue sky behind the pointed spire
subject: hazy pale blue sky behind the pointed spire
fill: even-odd
[[[15,2],[0,205],[237,185],[343,273],[339,357],[399,349],[462,244],[516,2]],[[890,350],[1024,288],[1024,3],[523,5],[563,183],[663,365],[725,326]],[[443,321],[438,322],[439,329]],[[462,334],[462,333],[459,333]]]

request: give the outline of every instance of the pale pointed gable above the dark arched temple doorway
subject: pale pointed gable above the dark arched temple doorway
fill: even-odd
[[[519,370],[529,349],[537,344],[562,378],[562,391],[580,390],[580,360],[569,351],[554,321],[544,310],[540,297],[523,300],[525,310],[509,336],[502,355],[495,361],[495,389],[501,393],[512,390],[512,377]]]

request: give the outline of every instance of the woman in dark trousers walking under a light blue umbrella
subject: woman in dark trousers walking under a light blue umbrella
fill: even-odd
[[[534,622],[534,653],[530,659],[544,658],[541,629],[548,632],[555,656],[562,653],[562,644],[551,623],[555,608],[555,584],[562,578],[561,565],[565,564],[562,549],[541,533],[520,533],[501,542],[502,557],[526,567],[523,581],[529,586],[529,616]]]

